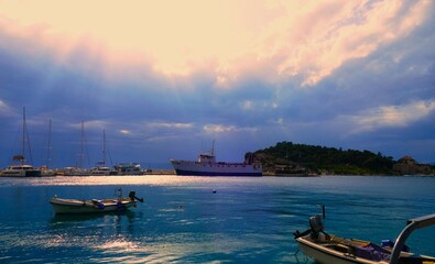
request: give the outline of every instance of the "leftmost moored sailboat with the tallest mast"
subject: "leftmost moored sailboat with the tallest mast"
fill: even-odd
[[[40,177],[41,169],[34,168],[30,164],[25,164],[25,142],[29,143],[28,125],[25,123],[25,107],[23,108],[23,134],[22,134],[22,146],[21,154],[14,155],[12,161],[19,162],[19,164],[10,165],[0,173],[0,176],[4,177]],[[29,143],[30,150],[30,143]],[[30,156],[32,156],[30,154]]]

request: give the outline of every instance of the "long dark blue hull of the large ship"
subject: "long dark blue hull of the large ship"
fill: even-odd
[[[171,161],[177,175],[185,176],[262,176],[261,165],[243,163],[199,163],[188,161]]]

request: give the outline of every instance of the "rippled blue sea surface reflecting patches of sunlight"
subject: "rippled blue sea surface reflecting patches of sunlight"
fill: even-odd
[[[75,217],[48,204],[115,198],[118,187],[145,201]],[[435,177],[0,178],[0,263],[315,263],[293,232],[322,205],[328,233],[394,240],[407,219],[435,213]],[[407,245],[435,255],[434,237],[418,230]]]

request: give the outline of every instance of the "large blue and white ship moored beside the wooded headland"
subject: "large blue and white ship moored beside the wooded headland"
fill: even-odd
[[[170,160],[177,175],[262,176],[261,163],[249,155],[243,163],[216,162],[215,151],[202,153],[197,161]]]

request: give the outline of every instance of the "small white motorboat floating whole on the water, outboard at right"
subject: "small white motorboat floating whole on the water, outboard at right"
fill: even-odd
[[[143,198],[135,197],[135,191],[130,191],[129,197],[122,197],[122,189],[117,189],[118,198],[77,200],[52,197],[50,204],[56,213],[94,213],[94,212],[122,212],[130,207],[135,207],[137,201]]]

